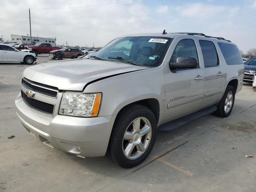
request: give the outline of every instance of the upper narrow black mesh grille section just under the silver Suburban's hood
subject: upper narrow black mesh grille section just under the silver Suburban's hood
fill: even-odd
[[[23,78],[21,80],[21,84],[31,91],[34,91],[34,92],[37,92],[37,93],[40,93],[40,94],[43,94],[46,96],[57,98],[58,91],[50,90],[47,88],[43,88],[39,85],[32,84],[32,83],[28,82],[27,80],[24,80]]]

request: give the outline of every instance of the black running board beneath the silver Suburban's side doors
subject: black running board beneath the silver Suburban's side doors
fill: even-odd
[[[189,115],[186,115],[184,117],[181,117],[181,118],[178,118],[176,120],[173,120],[173,121],[170,121],[170,122],[167,122],[165,124],[162,124],[158,127],[158,130],[160,131],[170,131],[172,129],[175,129],[179,126],[182,126],[192,120],[195,120],[203,115],[207,115],[207,114],[210,114],[214,111],[217,110],[217,107],[216,106],[210,106],[210,107],[207,107],[207,108],[204,108],[204,109],[201,109],[197,112],[194,112],[192,114],[189,114]]]

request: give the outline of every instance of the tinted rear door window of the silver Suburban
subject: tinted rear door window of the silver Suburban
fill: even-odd
[[[199,40],[204,58],[204,67],[214,67],[219,65],[216,48],[211,41]]]

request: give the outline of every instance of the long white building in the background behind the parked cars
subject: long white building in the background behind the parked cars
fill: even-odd
[[[30,36],[23,35],[11,35],[12,42],[19,44],[30,44]],[[44,38],[44,37],[32,37],[32,43],[50,43],[52,46],[56,46],[55,38]]]

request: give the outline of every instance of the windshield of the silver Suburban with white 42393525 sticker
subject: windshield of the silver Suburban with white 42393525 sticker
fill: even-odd
[[[171,40],[172,38],[150,36],[116,38],[94,56],[105,60],[127,62],[115,59],[124,58],[140,66],[157,67],[162,63]]]

